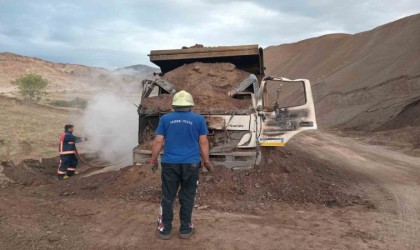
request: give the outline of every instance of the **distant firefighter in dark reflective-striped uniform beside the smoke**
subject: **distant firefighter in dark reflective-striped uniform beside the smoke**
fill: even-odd
[[[64,132],[60,135],[60,165],[58,166],[57,176],[59,180],[66,180],[70,176],[78,174],[76,167],[79,162],[79,154],[76,143],[86,141],[86,137],[76,137],[73,135],[74,126],[67,124]]]

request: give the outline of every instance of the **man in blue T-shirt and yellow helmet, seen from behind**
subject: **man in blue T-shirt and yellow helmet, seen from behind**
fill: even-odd
[[[164,240],[171,238],[173,203],[178,188],[180,238],[187,239],[194,233],[191,217],[201,166],[200,153],[204,166],[209,171],[214,169],[209,158],[206,120],[191,112],[193,106],[191,94],[183,90],[176,93],[172,100],[174,112],[160,118],[153,141],[150,164],[155,166],[165,143],[161,159],[162,200],[158,219],[159,237]]]

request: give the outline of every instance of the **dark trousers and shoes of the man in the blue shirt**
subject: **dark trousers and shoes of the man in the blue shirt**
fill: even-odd
[[[191,216],[194,208],[195,195],[198,187],[200,163],[174,164],[162,162],[162,201],[160,206],[158,230],[161,234],[169,234],[172,230],[173,205],[178,188],[181,205],[179,232],[190,233],[193,228]]]

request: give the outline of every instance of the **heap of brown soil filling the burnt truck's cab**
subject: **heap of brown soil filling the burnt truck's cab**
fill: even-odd
[[[238,83],[250,74],[231,63],[192,63],[176,68],[163,76],[173,83],[176,91],[185,90],[194,97],[195,111],[237,110],[252,106],[250,100],[228,96]],[[160,95],[144,100],[143,106],[159,111],[171,110],[172,95]]]

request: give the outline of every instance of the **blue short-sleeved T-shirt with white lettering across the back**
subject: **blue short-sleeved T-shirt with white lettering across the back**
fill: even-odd
[[[157,135],[165,137],[162,162],[194,164],[200,162],[199,136],[207,135],[206,120],[193,112],[172,112],[160,118]]]

